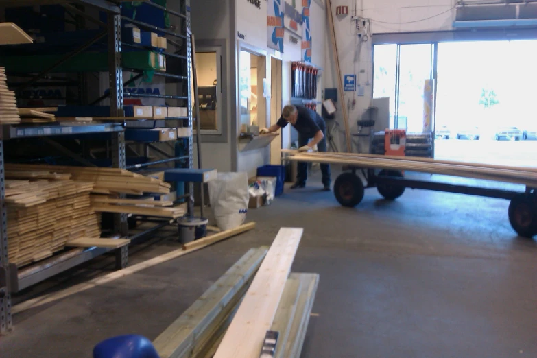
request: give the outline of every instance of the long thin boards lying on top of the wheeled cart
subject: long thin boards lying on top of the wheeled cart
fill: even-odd
[[[422,173],[511,182],[514,184],[524,184],[528,187],[537,187],[537,169],[528,167],[508,167],[503,165],[463,163],[429,158],[379,156],[374,154],[284,152],[291,154],[291,157],[288,158],[289,160],[298,162],[419,171]]]

